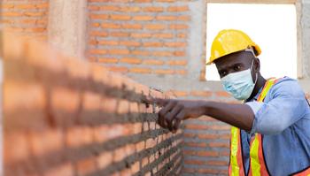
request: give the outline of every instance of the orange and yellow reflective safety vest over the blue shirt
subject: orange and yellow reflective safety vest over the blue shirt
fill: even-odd
[[[258,102],[263,102],[269,89],[275,84],[277,80],[267,80],[264,88],[262,89]],[[263,135],[255,134],[250,142],[250,176],[268,176],[270,175],[267,170],[263,154],[262,145]],[[245,168],[242,157],[241,146],[241,130],[235,126],[231,127],[230,134],[230,161],[229,161],[229,176],[244,176]],[[310,176],[310,167],[306,170],[296,172],[294,176]]]

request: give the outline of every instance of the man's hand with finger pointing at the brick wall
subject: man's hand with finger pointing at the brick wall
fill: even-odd
[[[205,114],[204,101],[151,98],[148,102],[163,107],[159,111],[159,126],[174,133],[183,119],[198,118]]]

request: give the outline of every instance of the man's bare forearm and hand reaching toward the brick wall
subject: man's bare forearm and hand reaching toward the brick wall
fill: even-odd
[[[176,131],[183,119],[211,116],[246,131],[252,129],[254,114],[246,104],[217,103],[210,101],[153,99],[163,108],[159,111],[160,126]]]

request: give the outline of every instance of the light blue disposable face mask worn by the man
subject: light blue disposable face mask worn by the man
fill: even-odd
[[[253,65],[253,61],[252,61]],[[252,80],[252,65],[251,68],[237,72],[229,73],[227,76],[221,78],[221,83],[226,91],[228,91],[237,100],[248,99],[255,87],[258,75],[256,73],[255,82]]]

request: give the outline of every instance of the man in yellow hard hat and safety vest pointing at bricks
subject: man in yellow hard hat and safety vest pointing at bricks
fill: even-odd
[[[207,115],[230,124],[229,175],[310,175],[310,108],[297,80],[266,80],[260,47],[239,30],[222,30],[210,61],[221,83],[243,104],[152,99],[159,125],[175,132],[184,119]],[[271,65],[278,66],[278,65]],[[236,127],[235,127],[236,126]]]

